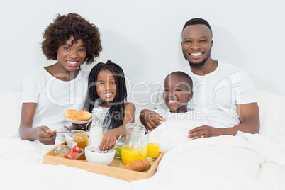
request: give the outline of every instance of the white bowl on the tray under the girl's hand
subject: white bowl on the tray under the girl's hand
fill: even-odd
[[[95,151],[95,152],[94,152]],[[113,148],[108,150],[106,153],[99,152],[98,146],[87,146],[85,147],[85,157],[87,162],[94,164],[106,165],[111,164],[115,156],[115,150]]]

